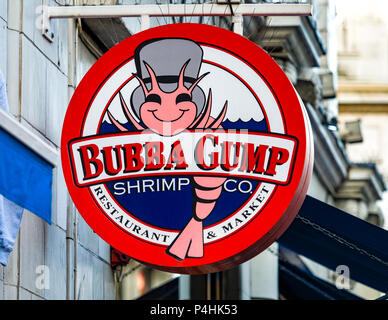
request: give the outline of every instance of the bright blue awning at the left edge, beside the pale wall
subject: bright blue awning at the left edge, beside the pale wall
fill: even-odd
[[[51,223],[52,166],[0,128],[0,194]]]

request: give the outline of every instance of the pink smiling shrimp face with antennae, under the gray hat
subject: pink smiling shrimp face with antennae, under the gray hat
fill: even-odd
[[[151,90],[148,91],[142,79],[135,75],[142,85],[145,95],[145,102],[140,107],[140,118],[149,129],[160,135],[178,134],[189,128],[197,117],[197,106],[192,101],[192,91],[206,74],[199,77],[187,89],[183,80],[187,64],[188,62],[182,67],[177,89],[170,93],[160,89],[156,76],[147,63],[145,66],[151,76]]]

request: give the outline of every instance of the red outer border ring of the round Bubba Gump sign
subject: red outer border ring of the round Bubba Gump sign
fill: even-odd
[[[103,84],[100,79],[106,79],[113,70],[132,56],[140,43],[151,38],[163,37],[188,38],[199,43],[209,43],[233,52],[235,56],[245,60],[272,88],[283,113],[286,134],[297,137],[299,141],[293,179],[288,186],[276,188],[265,210],[239,232],[223,241],[205,246],[203,258],[183,261],[177,261],[167,255],[165,248],[145,244],[128,236],[113,222],[107,223],[107,218],[91,199],[88,189],[80,189],[73,184],[67,153],[68,142],[80,136],[80,128],[83,126],[89,102],[93,99],[95,89]],[[271,86],[271,83],[276,85],[276,88]],[[281,108],[282,105],[287,107]],[[76,207],[89,226],[105,241],[134,259],[162,270],[209,273],[233,267],[252,258],[278,239],[289,226],[304,200],[311,177],[312,150],[307,148],[307,145],[312,143],[311,140],[305,115],[293,86],[264,50],[228,30],[208,25],[174,24],[152,28],[129,37],[104,54],[92,66],[74,92],[66,113],[61,138],[61,157],[66,184]],[[307,150],[310,150],[310,154],[306,153]]]

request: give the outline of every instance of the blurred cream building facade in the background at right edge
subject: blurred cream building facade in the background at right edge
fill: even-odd
[[[388,161],[384,134],[388,116],[388,19],[384,1],[369,5],[358,1],[351,10],[345,1],[338,3],[339,122],[343,133],[346,123],[360,121],[363,141],[347,144],[353,162],[375,163],[388,181]],[[375,37],[369,37],[373,34]],[[387,223],[388,198],[383,193],[375,223]]]

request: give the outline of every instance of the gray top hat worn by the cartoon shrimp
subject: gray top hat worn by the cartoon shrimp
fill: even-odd
[[[187,62],[184,72],[186,88],[197,80],[201,68],[203,51],[192,40],[180,38],[152,39],[143,42],[135,50],[137,75],[143,80],[148,90],[151,89],[151,78],[144,64],[146,62],[156,75],[158,84],[164,92],[173,92],[178,87],[179,73]],[[143,88],[138,86],[132,93],[131,106],[139,116],[140,106],[145,101]],[[205,94],[199,86],[192,91],[192,101],[197,106],[197,115],[205,105]]]

